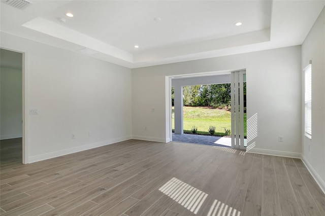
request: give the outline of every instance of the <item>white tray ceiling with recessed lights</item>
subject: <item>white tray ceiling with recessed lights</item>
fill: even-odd
[[[1,1],[1,31],[75,52],[87,48],[95,54],[85,55],[129,68],[301,45],[325,5],[31,0],[20,10]]]

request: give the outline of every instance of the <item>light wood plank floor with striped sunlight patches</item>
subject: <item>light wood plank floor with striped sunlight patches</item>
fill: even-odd
[[[325,215],[301,160],[188,143],[1,161],[0,179],[2,215]]]

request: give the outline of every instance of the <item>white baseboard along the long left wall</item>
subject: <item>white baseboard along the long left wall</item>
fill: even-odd
[[[94,149],[94,148],[98,148],[98,147],[102,147],[102,146],[107,146],[107,145],[110,145],[110,144],[113,144],[116,142],[125,141],[128,139],[132,139],[132,136],[125,136],[125,137],[110,139],[110,140],[106,140],[106,141],[102,141],[102,142],[91,143],[91,144],[76,147],[76,148],[65,149],[65,150],[61,150],[61,151],[57,151],[57,152],[51,152],[51,153],[44,154],[44,155],[32,156],[32,157],[28,158],[28,163],[34,163],[37,161],[43,161],[43,160],[56,158],[56,157],[63,156],[63,155],[69,155],[72,153],[81,152],[81,151],[85,151],[88,149]]]

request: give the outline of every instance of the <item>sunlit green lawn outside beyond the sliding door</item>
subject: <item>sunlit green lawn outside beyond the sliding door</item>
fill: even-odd
[[[209,126],[215,126],[215,135],[224,136],[224,128],[231,130],[231,112],[207,106],[183,107],[184,132],[191,132],[195,125],[198,133],[209,133]],[[174,107],[172,107],[172,125],[174,124]],[[244,113],[244,134],[246,136],[246,113]]]

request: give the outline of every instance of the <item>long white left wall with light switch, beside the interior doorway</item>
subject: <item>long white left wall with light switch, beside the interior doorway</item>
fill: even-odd
[[[26,53],[28,162],[132,137],[131,69],[3,32],[1,46]]]

